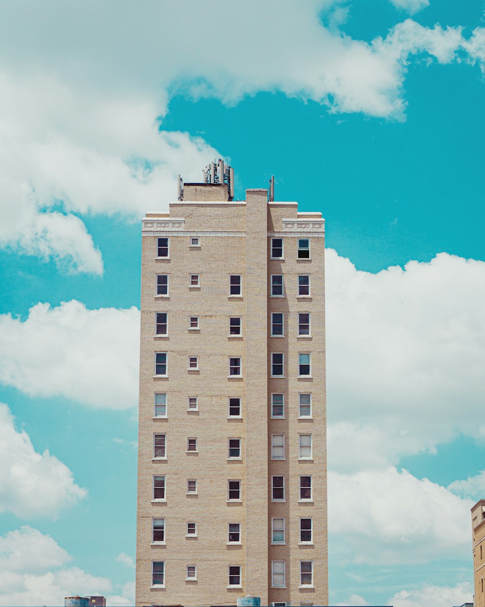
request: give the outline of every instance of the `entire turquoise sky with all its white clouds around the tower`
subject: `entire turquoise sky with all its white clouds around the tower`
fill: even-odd
[[[219,155],[326,218],[330,602],[471,600],[484,9],[1,5],[0,605],[133,604],[139,220]]]

